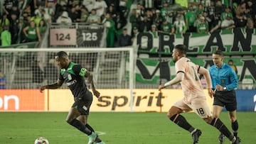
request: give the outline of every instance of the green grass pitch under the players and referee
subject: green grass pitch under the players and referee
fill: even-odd
[[[33,144],[44,136],[50,144],[87,143],[87,136],[65,122],[68,112],[1,112],[0,143]],[[202,130],[199,143],[218,143],[219,132],[195,113],[183,113],[189,123]],[[228,113],[220,118],[231,129]],[[241,143],[256,143],[256,113],[238,112]],[[190,133],[169,121],[166,113],[91,112],[89,124],[107,144],[188,144]],[[225,144],[230,143],[225,138]]]

